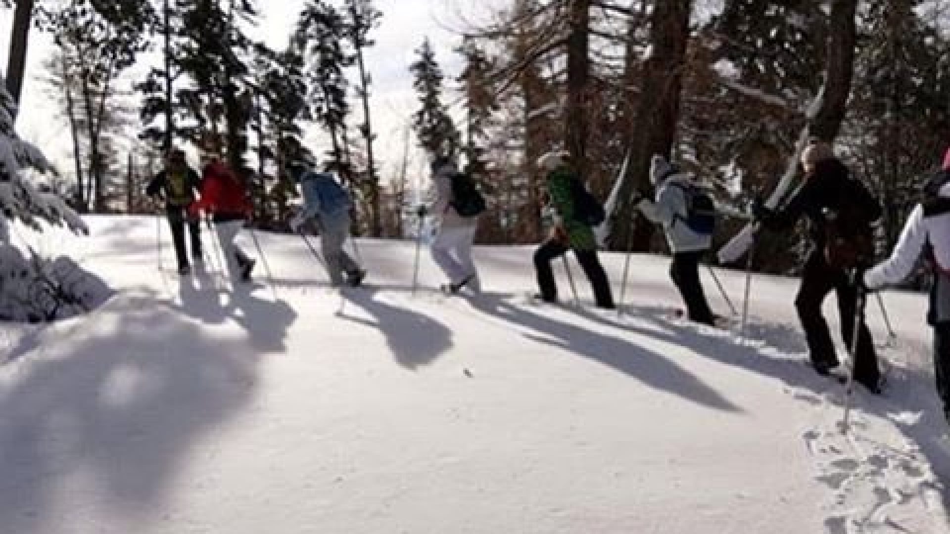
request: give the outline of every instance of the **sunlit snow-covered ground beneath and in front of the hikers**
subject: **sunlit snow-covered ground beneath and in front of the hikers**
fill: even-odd
[[[462,298],[425,251],[413,295],[413,243],[365,240],[370,286],[341,300],[293,236],[258,233],[258,283],[231,291],[217,260],[173,274],[163,221],[88,222],[35,244],[116,295],[0,328],[4,533],[950,532],[924,296],[884,295],[890,388],[857,391],[843,434],[793,279],[753,278],[740,338],[673,318],[664,257],[634,257],[618,316],[529,302],[531,248],[480,248]],[[738,306],[743,274],[717,272]]]

